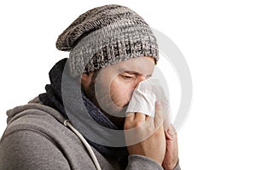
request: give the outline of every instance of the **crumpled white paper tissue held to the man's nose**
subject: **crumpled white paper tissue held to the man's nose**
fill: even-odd
[[[166,113],[164,122],[166,130],[172,123],[171,108],[164,90],[157,79],[147,79],[137,85],[131,96],[126,113],[141,112],[148,116],[154,116],[154,106],[157,100],[161,101],[163,111]]]

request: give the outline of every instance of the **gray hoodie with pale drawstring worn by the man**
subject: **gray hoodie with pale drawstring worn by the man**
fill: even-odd
[[[7,111],[8,127],[0,141],[1,170],[44,169],[120,169],[113,157],[102,156],[93,147],[84,145],[72,128],[64,125],[65,117],[38,97],[28,105]],[[96,161],[93,161],[93,155]],[[126,169],[162,169],[159,163],[131,155]],[[180,169],[177,165],[175,170]]]

